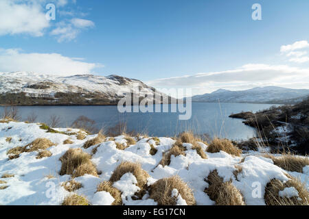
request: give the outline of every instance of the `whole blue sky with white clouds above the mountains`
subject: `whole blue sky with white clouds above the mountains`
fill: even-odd
[[[304,0],[0,0],[0,72],[116,74],[193,94],[309,88],[308,8]]]

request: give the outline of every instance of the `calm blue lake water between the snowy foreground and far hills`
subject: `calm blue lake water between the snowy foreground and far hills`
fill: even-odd
[[[256,136],[255,129],[242,120],[229,118],[232,113],[257,112],[271,107],[269,104],[248,103],[192,103],[192,118],[179,120],[179,113],[119,113],[117,106],[25,106],[18,107],[23,120],[34,112],[37,122],[47,123],[49,116],[61,117],[60,127],[70,127],[78,116],[87,116],[96,121],[98,128],[114,127],[126,122],[127,131],[148,133],[149,136],[175,136],[181,131],[193,130],[233,140],[245,140]],[[3,107],[0,107],[2,112]]]

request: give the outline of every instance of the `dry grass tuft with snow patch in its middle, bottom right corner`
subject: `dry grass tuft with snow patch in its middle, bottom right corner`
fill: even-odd
[[[290,187],[294,187],[297,190],[299,197],[293,196],[288,198],[279,196],[280,191]],[[266,185],[264,200],[266,205],[309,205],[309,192],[306,185],[293,177],[290,177],[290,180],[286,183],[278,179],[272,179]]]

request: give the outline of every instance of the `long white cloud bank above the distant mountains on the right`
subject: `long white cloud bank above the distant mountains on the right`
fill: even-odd
[[[286,65],[246,64],[233,70],[199,73],[191,76],[170,77],[148,81],[156,88],[194,88],[194,94],[211,92],[218,88],[239,90],[256,86],[309,87],[309,68]]]

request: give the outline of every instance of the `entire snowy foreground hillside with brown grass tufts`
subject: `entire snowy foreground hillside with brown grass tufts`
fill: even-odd
[[[0,205],[308,205],[308,158],[295,156],[305,164],[294,170],[266,150],[182,138],[2,120]]]

